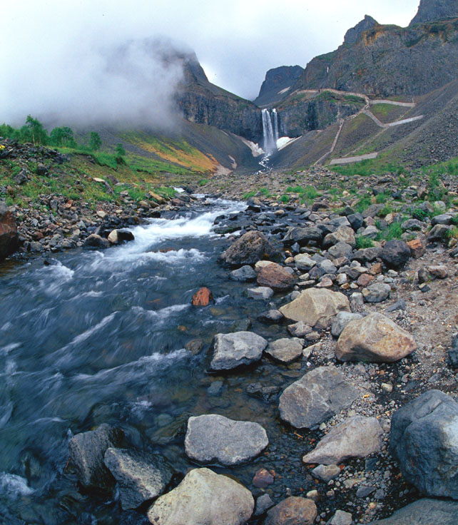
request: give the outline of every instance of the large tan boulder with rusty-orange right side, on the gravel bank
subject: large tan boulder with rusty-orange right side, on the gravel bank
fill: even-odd
[[[335,355],[340,361],[395,362],[417,349],[412,335],[385,315],[372,313],[350,322],[340,334]]]

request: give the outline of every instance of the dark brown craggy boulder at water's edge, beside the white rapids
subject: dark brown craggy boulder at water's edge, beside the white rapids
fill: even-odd
[[[279,255],[273,245],[258,231],[250,231],[220,255],[220,260],[231,266],[254,265],[258,260]]]

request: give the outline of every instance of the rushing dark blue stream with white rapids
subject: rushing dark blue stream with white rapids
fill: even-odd
[[[207,394],[213,335],[255,322],[266,305],[245,297],[246,285],[230,281],[217,262],[226,241],[212,232],[213,222],[245,205],[204,204],[133,228],[135,240],[126,245],[73,250],[51,265],[36,259],[0,267],[5,523],[143,523],[121,519],[116,501],[97,503],[78,492],[65,470],[68,439],[77,432],[118,425],[139,449],[158,447],[185,472],[183,436],[175,436],[189,414],[267,419],[262,403],[239,393],[245,385],[239,379],[225,382],[215,398]],[[195,308],[191,297],[203,285],[215,304]],[[279,329],[256,331],[268,336],[269,330]],[[204,347],[193,355],[185,345],[195,338]]]

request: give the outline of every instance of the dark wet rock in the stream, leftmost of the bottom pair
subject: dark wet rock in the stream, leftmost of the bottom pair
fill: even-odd
[[[96,430],[76,434],[68,442],[70,461],[76,469],[78,481],[86,489],[109,490],[114,479],[103,463],[105,452],[121,444],[123,431],[101,424]]]

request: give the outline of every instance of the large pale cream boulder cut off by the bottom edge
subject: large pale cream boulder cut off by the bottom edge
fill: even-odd
[[[194,469],[148,510],[154,525],[243,525],[255,500],[243,485],[210,469]]]

